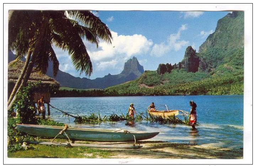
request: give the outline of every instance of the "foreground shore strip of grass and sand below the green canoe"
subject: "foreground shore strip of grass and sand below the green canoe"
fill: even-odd
[[[48,141],[51,139],[41,139]],[[57,142],[60,139],[56,140]],[[64,141],[65,142],[65,141]],[[133,144],[121,142],[75,141],[84,144]],[[36,150],[8,152],[8,157],[26,158],[112,158],[112,159],[243,159],[243,148],[220,148],[215,145],[182,144],[164,141],[138,141],[140,149],[102,149],[33,145]],[[60,150],[60,151],[59,151]],[[72,151],[73,154],[70,154]]]

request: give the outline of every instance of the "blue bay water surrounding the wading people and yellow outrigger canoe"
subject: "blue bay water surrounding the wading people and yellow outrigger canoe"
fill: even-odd
[[[130,103],[134,103],[137,113],[145,112],[151,102],[156,107],[167,105],[169,109],[190,111],[189,101],[197,103],[197,130],[190,126],[149,123],[105,122],[100,124],[76,124],[74,119],[62,116],[51,108],[50,118],[70,126],[86,128],[126,129],[128,131],[160,132],[150,140],[178,143],[197,143],[220,147],[243,147],[243,95],[223,96],[130,96],[130,97],[67,97],[51,98],[51,105],[70,114],[101,116],[116,113],[126,114]],[[163,108],[163,107],[161,107]],[[182,118],[183,119],[183,118]]]

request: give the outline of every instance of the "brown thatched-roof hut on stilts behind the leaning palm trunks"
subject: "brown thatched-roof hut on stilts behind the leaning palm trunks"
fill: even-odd
[[[12,92],[12,89],[15,86],[16,81],[18,80],[18,77],[21,74],[23,65],[24,65],[24,62],[21,60],[17,61],[17,63],[14,63],[14,61],[11,61],[8,64],[8,98]],[[43,85],[43,90],[35,92],[34,101],[37,101],[40,94],[43,94],[45,96],[44,98],[46,102],[50,102],[50,91],[59,89],[59,82],[55,81],[53,78],[45,74],[36,72],[34,69],[32,70],[32,73],[28,81],[29,82],[41,81]]]

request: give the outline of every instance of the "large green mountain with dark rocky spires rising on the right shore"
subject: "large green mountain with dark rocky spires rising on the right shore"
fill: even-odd
[[[199,47],[188,46],[181,69],[158,74],[147,71],[138,79],[108,87],[106,95],[225,95],[244,92],[244,12],[218,20],[215,32]]]

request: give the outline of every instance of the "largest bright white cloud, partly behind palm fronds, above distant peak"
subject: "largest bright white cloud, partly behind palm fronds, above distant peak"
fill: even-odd
[[[98,71],[104,73],[107,70],[111,74],[118,74],[122,71],[122,67],[128,59],[133,56],[138,58],[147,55],[153,45],[151,40],[141,34],[126,36],[118,35],[113,31],[111,33],[113,37],[112,44],[100,40],[98,48],[96,48],[95,44],[84,39],[87,52],[92,61],[93,73]],[[73,76],[79,76],[80,72],[75,70],[68,52],[58,48],[54,48],[54,51],[60,62],[59,69]]]

